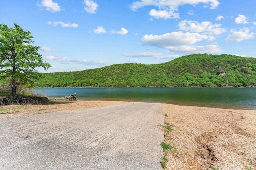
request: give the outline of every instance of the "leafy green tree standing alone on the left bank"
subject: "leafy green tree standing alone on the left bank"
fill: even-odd
[[[35,68],[47,70],[51,66],[38,54],[40,47],[31,45],[34,37],[30,34],[16,23],[14,28],[0,24],[0,78],[10,78],[12,96],[17,94],[18,85],[33,85],[33,80],[40,76]]]

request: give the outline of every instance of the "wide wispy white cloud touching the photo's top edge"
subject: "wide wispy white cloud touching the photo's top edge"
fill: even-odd
[[[185,4],[196,5],[199,3],[210,4],[211,9],[218,7],[220,2],[218,0],[137,0],[132,2],[130,9],[133,11],[138,10],[144,6],[156,6],[158,10],[150,10],[150,16],[154,18],[179,18],[178,7]],[[192,13],[190,13],[192,14]]]

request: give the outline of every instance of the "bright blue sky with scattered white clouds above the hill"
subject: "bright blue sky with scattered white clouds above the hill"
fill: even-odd
[[[52,67],[157,64],[194,53],[256,57],[256,0],[3,0]]]

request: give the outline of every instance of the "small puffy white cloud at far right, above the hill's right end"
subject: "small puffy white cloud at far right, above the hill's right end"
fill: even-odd
[[[231,29],[231,35],[228,35],[228,37],[225,39],[225,41],[236,41],[240,42],[246,39],[252,39],[254,38],[254,33],[250,32],[250,30],[246,27],[240,29],[239,31],[236,31],[234,29]]]

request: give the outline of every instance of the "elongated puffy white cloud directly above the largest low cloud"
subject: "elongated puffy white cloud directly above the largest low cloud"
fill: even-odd
[[[210,35],[219,35],[226,32],[224,28],[220,28],[221,24],[212,24],[210,21],[203,21],[198,23],[198,21],[180,21],[178,24],[181,30],[192,31],[196,33],[204,33]]]

